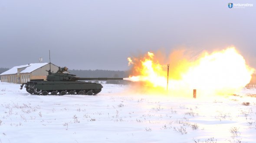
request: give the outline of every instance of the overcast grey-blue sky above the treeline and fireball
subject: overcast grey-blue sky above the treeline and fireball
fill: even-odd
[[[49,62],[51,50],[57,66],[128,70],[138,53],[230,45],[256,67],[255,0],[0,0],[0,67]]]

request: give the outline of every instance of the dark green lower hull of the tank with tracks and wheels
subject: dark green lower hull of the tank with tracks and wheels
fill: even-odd
[[[30,94],[36,95],[96,95],[101,92],[103,86],[81,81],[30,81],[25,83],[25,88]]]

